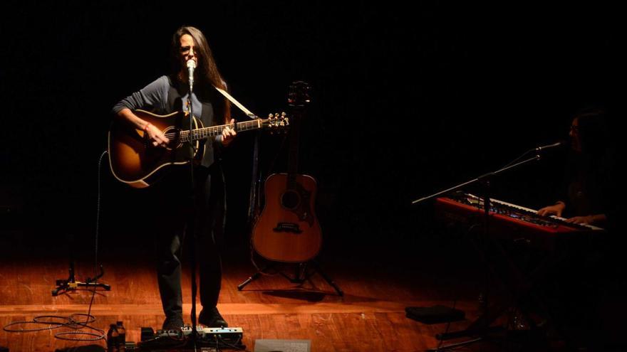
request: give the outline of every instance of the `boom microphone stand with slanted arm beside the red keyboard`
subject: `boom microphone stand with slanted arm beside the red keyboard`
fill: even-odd
[[[541,149],[532,149],[533,151],[541,151]],[[525,153],[528,154],[529,152]],[[523,154],[523,155],[525,155]],[[519,158],[518,158],[519,159]],[[515,159],[515,160],[518,160]],[[480,246],[483,247],[484,250],[484,257],[483,257],[483,261],[484,261],[484,266],[485,266],[485,277],[484,277],[484,300],[482,302],[482,314],[479,318],[477,318],[477,320],[475,320],[471,325],[470,328],[463,330],[463,331],[455,331],[455,332],[450,332],[450,333],[445,333],[445,334],[437,334],[435,337],[440,340],[447,340],[450,338],[458,338],[458,337],[462,337],[462,336],[478,336],[477,338],[473,338],[472,340],[469,341],[462,341],[460,343],[451,343],[449,345],[446,346],[440,346],[437,347],[435,349],[427,349],[427,351],[446,351],[448,348],[456,348],[459,346],[465,346],[468,345],[470,343],[475,343],[478,341],[482,341],[485,336],[487,336],[487,333],[490,330],[493,330],[493,328],[489,328],[489,323],[491,321],[493,321],[494,319],[496,319],[497,317],[494,317],[494,319],[490,319],[489,314],[488,314],[488,287],[489,287],[489,269],[488,269],[488,264],[487,264],[487,257],[485,256],[485,254],[487,253],[487,243],[488,243],[488,238],[489,238],[489,210],[490,210],[490,197],[492,196],[491,192],[490,192],[490,187],[491,184],[490,182],[492,181],[492,178],[494,178],[494,176],[497,176],[499,174],[501,174],[504,171],[508,171],[510,169],[515,169],[518,166],[522,166],[524,164],[527,164],[531,161],[538,161],[540,159],[540,155],[536,154],[533,157],[530,157],[528,159],[525,159],[523,161],[519,161],[516,164],[512,164],[509,163],[507,164],[507,166],[504,166],[502,169],[499,169],[497,171],[492,171],[492,172],[488,172],[487,174],[483,174],[481,176],[478,176],[477,178],[473,178],[470,181],[466,181],[464,183],[460,183],[457,186],[453,186],[451,188],[447,188],[443,191],[434,193],[430,196],[426,196],[423,198],[419,198],[415,201],[412,201],[412,204],[417,204],[423,201],[427,201],[428,199],[432,199],[435,198],[437,196],[441,196],[442,194],[445,193],[450,193],[452,191],[457,191],[458,189],[470,185],[472,183],[475,182],[479,182],[482,184],[483,186],[483,204],[484,204],[484,226],[483,226],[483,232],[482,232],[482,238],[480,241]],[[498,327],[497,327],[498,328]]]

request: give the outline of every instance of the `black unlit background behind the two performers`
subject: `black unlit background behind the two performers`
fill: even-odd
[[[99,179],[105,238],[121,238],[123,222],[141,228],[138,193],[113,179],[108,159],[99,172],[98,161],[111,107],[166,72],[183,24],[207,35],[232,94],[260,116],[286,110],[292,81],[311,84],[300,170],[318,179],[328,239],[420,235],[432,210],[411,201],[566,139],[581,108],[606,107],[622,134],[625,28],[618,6],[596,1],[0,6],[2,231],[91,238]],[[253,136],[241,134],[225,161],[229,238],[249,235]],[[262,138],[264,176],[283,171],[285,148],[281,137]],[[563,156],[547,151],[504,174],[494,197],[553,202]]]

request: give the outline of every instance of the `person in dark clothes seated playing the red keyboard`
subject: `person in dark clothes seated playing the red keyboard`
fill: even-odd
[[[539,215],[556,215],[569,223],[595,225],[608,230],[603,241],[574,250],[546,282],[545,294],[559,313],[559,325],[564,334],[577,346],[602,351],[607,336],[608,316],[604,302],[608,301],[608,287],[623,273],[617,268],[620,260],[620,225],[616,214],[617,189],[613,179],[613,154],[601,110],[589,110],[574,116],[569,132],[571,150],[567,158],[564,182],[559,201],[538,210]],[[613,234],[612,234],[613,233]],[[612,307],[615,309],[615,307]],[[596,349],[601,348],[601,349]],[[587,350],[586,350],[587,351]]]

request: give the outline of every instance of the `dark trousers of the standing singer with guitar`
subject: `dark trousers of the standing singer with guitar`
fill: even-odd
[[[158,208],[157,281],[165,316],[182,316],[181,252],[186,235],[199,263],[200,302],[207,308],[218,302],[222,281],[219,249],[226,209],[224,180],[219,168],[202,166],[195,169],[195,180],[192,192],[190,171],[184,169],[159,183],[150,197],[155,200],[152,206]]]

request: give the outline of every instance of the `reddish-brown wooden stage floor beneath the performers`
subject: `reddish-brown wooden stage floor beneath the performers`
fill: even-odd
[[[93,248],[88,243],[81,244],[87,249],[79,250],[76,256],[76,277],[80,281],[93,276]],[[262,276],[239,291],[237,285],[255,270],[247,243],[227,242],[218,307],[229,326],[243,329],[247,351],[254,351],[255,340],[266,338],[310,340],[311,351],[425,351],[438,346],[435,334],[464,329],[477,317],[482,265],[467,243],[427,236],[387,239],[385,245],[377,245],[374,240],[367,245],[353,244],[351,250],[347,249],[350,242],[329,240],[326,244],[319,261],[341,287],[343,297],[318,274],[301,285],[281,275]],[[68,277],[65,247],[58,242],[35,244],[17,235],[4,238],[0,259],[1,326],[31,321],[36,316],[87,313],[90,292],[51,295],[56,279]],[[100,248],[99,260],[105,270],[101,281],[112,289],[95,294],[90,313],[96,320],[92,326],[106,331],[109,324],[121,320],[127,329],[127,341],[140,341],[142,326],[160,328],[163,316],[151,248],[138,242],[127,246],[105,244]],[[190,275],[185,268],[184,309],[189,324]],[[284,267],[286,274],[293,275],[293,270]],[[494,297],[499,295],[498,288],[493,287],[491,292]],[[406,306],[435,304],[455,304],[465,311],[465,321],[447,326],[423,324],[405,317]],[[54,334],[62,329],[0,331],[0,346],[10,351],[105,346],[102,340],[55,338]],[[559,351],[559,346],[551,343],[550,350]],[[484,342],[457,351],[505,350],[500,343]]]

